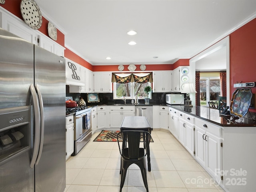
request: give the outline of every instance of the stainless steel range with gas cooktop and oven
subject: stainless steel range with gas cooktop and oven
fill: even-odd
[[[86,106],[66,109],[66,115],[72,112],[74,113],[74,153],[72,156],[75,156],[92,138],[92,112],[91,108]]]

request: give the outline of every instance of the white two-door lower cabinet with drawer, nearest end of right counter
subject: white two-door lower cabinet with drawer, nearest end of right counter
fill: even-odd
[[[213,134],[210,130],[217,134]],[[195,126],[195,159],[206,171],[220,182],[221,176],[221,141],[220,128],[202,120],[196,119]]]

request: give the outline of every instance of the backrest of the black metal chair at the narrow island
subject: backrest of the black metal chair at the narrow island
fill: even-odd
[[[145,146],[145,149],[146,149],[146,153],[144,154],[144,156],[146,156],[146,154],[148,152],[149,144],[150,144],[150,139],[151,139],[151,135],[150,135],[149,132],[139,131],[139,130],[130,130],[130,131],[125,130],[125,131],[120,131],[117,134],[117,138],[120,134],[121,134],[122,139],[123,139],[123,141],[122,141],[122,150],[120,148],[119,140],[118,140],[118,147],[119,147],[120,154],[122,156],[123,156],[122,151],[124,149],[128,149],[129,158],[131,160],[138,160],[139,158],[142,158],[141,156],[139,156],[140,138],[141,137],[143,138],[144,146]],[[126,144],[124,144],[124,142],[126,142]]]

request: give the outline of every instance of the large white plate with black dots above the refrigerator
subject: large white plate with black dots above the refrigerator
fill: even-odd
[[[39,29],[42,25],[42,13],[34,0],[22,0],[20,12],[23,20],[32,29]]]

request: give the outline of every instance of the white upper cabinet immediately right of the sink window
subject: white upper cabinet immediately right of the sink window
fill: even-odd
[[[171,92],[172,71],[154,71],[153,92]]]

